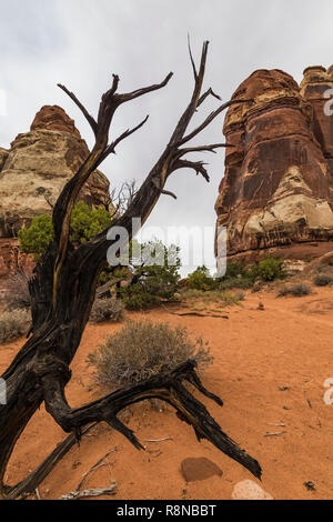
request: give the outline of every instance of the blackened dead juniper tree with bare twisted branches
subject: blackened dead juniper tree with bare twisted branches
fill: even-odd
[[[173,172],[180,169],[193,169],[196,174],[209,181],[204,163],[188,159],[191,152],[214,152],[225,147],[223,143],[192,147],[189,142],[224,109],[232,103],[240,103],[239,101],[221,104],[199,127],[186,133],[193,114],[203,101],[209,96],[219,98],[212,89],[202,92],[208,44],[209,42],[203,43],[199,69],[189,47],[194,74],[191,101],[129,208],[113,222],[117,227],[124,227],[130,239],[133,218],[141,218],[141,222],[144,223],[161,194],[175,197],[164,189],[167,180]],[[117,414],[129,404],[151,398],[170,403],[178,416],[193,426],[199,440],[208,439],[255,476],[261,476],[259,463],[223,433],[204,405],[184,387],[183,383],[188,381],[203,395],[222,405],[221,399],[202,385],[195,373],[194,361],[189,360],[171,372],[162,372],[81,408],[72,409],[65,398],[65,385],[71,379],[69,367],[80,344],[93,303],[98,277],[105,265],[107,251],[112,243],[108,240],[105,230],[89,243],[74,249],[69,240],[71,212],[91,172],[109,154],[114,153],[117,145],[140,129],[148,119],[109,143],[109,130],[117,109],[122,103],[163,88],[171,77],[172,73],[169,73],[161,83],[121,94],[118,92],[119,77],[113,74],[111,89],[101,98],[97,119],[88,112],[74,93],[59,86],[84,114],[95,141],[88,158],[65,184],[54,204],[52,214],[54,240],[29,282],[32,304],[30,337],[2,375],[7,385],[7,404],[0,405],[0,498],[2,499],[18,499],[34,491],[82,433],[95,423],[107,422],[128,438],[135,448],[142,449],[134,433],[118,419]],[[42,402],[48,413],[70,435],[23,481],[16,485],[4,484],[7,464],[16,442]]]

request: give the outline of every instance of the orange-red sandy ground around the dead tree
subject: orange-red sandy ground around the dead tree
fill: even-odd
[[[262,302],[264,310],[259,310]],[[214,307],[216,308],[216,307]],[[224,307],[225,310],[225,307]],[[259,460],[262,486],[275,499],[333,498],[333,404],[324,403],[324,381],[333,378],[333,294],[320,289],[305,298],[281,298],[275,293],[248,293],[241,307],[228,310],[229,320],[178,317],[167,310],[131,313],[155,321],[185,325],[194,337],[208,340],[213,365],[204,384],[224,401],[219,408],[203,402],[222,429]],[[78,406],[97,396],[90,389],[90,351],[122,324],[89,325],[72,364],[68,399]],[[22,342],[0,348],[0,371]],[[283,391],[282,391],[283,390]],[[169,408],[152,411],[145,404],[131,410],[128,425],[147,445],[137,451],[120,434],[100,424],[74,446],[40,486],[42,499],[58,499],[77,488],[82,475],[108,451],[108,463],[91,473],[84,488],[102,488],[114,479],[114,499],[230,499],[234,484],[253,479],[250,472],[209,442],[199,443],[193,431]],[[275,426],[274,424],[284,424]],[[275,436],[268,432],[283,431]],[[149,439],[172,440],[145,442]],[[8,469],[8,481],[17,482],[64,438],[43,408],[19,441]],[[223,475],[185,483],[180,465],[188,456],[205,456]],[[255,479],[254,479],[255,480]],[[304,482],[315,484],[307,491]]]

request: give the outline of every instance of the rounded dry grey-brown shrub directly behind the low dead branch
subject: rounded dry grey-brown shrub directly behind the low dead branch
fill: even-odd
[[[172,370],[188,359],[195,359],[199,370],[211,364],[208,343],[190,340],[185,328],[149,320],[128,321],[89,355],[97,382],[111,390]]]

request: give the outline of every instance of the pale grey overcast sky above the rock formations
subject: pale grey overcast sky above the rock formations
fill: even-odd
[[[43,104],[63,107],[91,147],[90,128],[58,82],[95,113],[112,73],[120,76],[120,91],[130,91],[174,72],[167,88],[117,113],[112,137],[147,114],[150,119],[102,164],[112,187],[144,179],[189,102],[188,32],[196,60],[203,40],[211,42],[205,86],[224,101],[255,69],[283,69],[301,81],[305,67],[333,62],[332,0],[0,0],[0,91],[7,93],[0,147],[8,148],[19,132],[28,131]],[[193,124],[218,103],[206,102]],[[222,124],[223,114],[196,143],[220,141]],[[203,159],[210,162],[211,183],[193,171],[173,173],[167,188],[178,200],[162,195],[149,227],[213,230],[224,154]],[[210,258],[213,264],[213,241]]]

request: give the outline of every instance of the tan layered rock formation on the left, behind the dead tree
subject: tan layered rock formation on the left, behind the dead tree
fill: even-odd
[[[43,107],[30,132],[19,134],[10,150],[0,148],[0,277],[16,271],[18,230],[42,213],[51,213],[64,183],[89,153],[87,143],[60,107]],[[109,205],[109,180],[94,171],[79,199]]]

